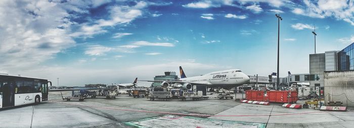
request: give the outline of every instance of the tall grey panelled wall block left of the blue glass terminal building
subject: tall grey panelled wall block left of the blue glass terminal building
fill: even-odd
[[[315,87],[316,83],[320,83],[320,87],[323,87],[323,72],[326,70],[325,66],[325,54],[310,54],[309,55],[309,73],[319,74],[320,80],[310,80],[310,87]]]

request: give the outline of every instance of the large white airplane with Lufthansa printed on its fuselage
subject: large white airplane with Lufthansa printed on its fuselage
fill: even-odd
[[[168,80],[139,80],[149,82],[161,82],[161,86],[168,87],[169,83],[181,84],[183,89],[190,90],[194,85],[205,85],[207,87],[222,87],[230,90],[233,87],[242,86],[249,82],[249,77],[239,69],[210,72],[205,75],[186,77],[180,66],[181,79],[175,81]]]

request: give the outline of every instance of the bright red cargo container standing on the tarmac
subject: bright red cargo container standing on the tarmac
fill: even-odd
[[[265,93],[265,94],[264,94]],[[288,98],[289,97],[289,98]],[[276,103],[296,103],[296,91],[246,91],[246,100]]]

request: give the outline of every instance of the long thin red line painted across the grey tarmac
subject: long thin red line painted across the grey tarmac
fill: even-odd
[[[73,104],[73,103],[64,103],[59,101],[52,101],[56,103],[62,104],[70,104],[70,105],[79,105],[86,107],[95,107],[95,108],[105,108],[105,109],[114,109],[114,110],[123,110],[123,111],[135,111],[135,112],[149,112],[149,113],[159,113],[159,114],[175,114],[175,115],[185,115],[185,116],[225,116],[225,117],[234,117],[234,116],[278,116],[278,115],[298,115],[298,114],[309,114],[309,113],[321,113],[324,111],[316,111],[316,112],[300,112],[300,113],[282,113],[282,114],[260,114],[260,115],[211,115],[211,114],[186,114],[186,113],[174,113],[174,112],[159,112],[159,111],[148,111],[148,110],[135,110],[135,109],[122,109],[122,108],[111,108],[111,107],[101,107],[94,105],[82,105],[82,104]]]

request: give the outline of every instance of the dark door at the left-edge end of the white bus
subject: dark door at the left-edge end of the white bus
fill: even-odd
[[[15,106],[15,82],[1,81],[0,86],[3,90],[2,107]]]

